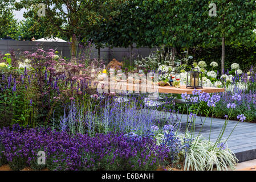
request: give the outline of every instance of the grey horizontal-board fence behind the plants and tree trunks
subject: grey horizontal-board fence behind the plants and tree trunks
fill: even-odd
[[[21,55],[24,51],[36,51],[38,48],[47,49],[55,49],[62,55],[62,57],[70,58],[70,43],[63,42],[32,42],[32,41],[16,41],[16,40],[0,40],[0,52],[1,53],[9,53],[13,50],[17,56]],[[145,57],[151,54],[151,52],[155,52],[157,48],[148,48],[141,47],[136,48],[136,44],[133,44],[133,56]],[[100,58],[105,60],[106,63],[111,61],[113,58],[116,60],[123,60],[124,57],[128,57],[130,55],[131,48],[121,48],[121,47],[105,47],[100,49]],[[98,57],[98,50],[93,47],[91,50],[91,58]]]

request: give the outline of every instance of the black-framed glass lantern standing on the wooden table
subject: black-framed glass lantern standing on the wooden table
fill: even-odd
[[[193,68],[191,71],[188,71],[188,76],[186,77],[186,88],[202,88],[202,72],[200,72],[198,68]]]

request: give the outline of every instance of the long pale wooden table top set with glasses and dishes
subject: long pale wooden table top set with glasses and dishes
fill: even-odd
[[[104,84],[104,81],[98,81],[101,84]],[[137,86],[138,88],[138,84],[128,84],[125,82],[115,82],[115,84],[126,84],[127,85],[127,90],[135,90],[135,86]],[[193,90],[192,88],[186,88],[186,85],[181,85],[180,88],[177,88],[175,86],[159,86],[159,85],[152,85],[155,86],[155,89],[159,89],[159,93],[173,93],[173,94],[182,94],[182,93],[187,93],[187,94],[192,94]],[[149,86],[146,86],[147,89],[149,88]],[[150,89],[152,89],[150,88]],[[139,89],[141,91],[141,84],[139,84]],[[137,90],[137,89],[136,89]],[[203,86],[202,89],[197,89],[197,90],[201,90],[201,92],[206,92],[206,93],[216,93],[216,92],[225,92],[224,88],[215,88],[215,87],[206,87]]]

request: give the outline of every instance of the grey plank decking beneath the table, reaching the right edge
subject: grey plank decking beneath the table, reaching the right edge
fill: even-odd
[[[179,114],[178,116],[181,117],[181,114]],[[182,128],[186,126],[186,117],[186,114],[182,116],[181,131]],[[205,117],[202,117],[203,122],[204,119]],[[198,134],[202,128],[201,135],[204,136],[206,139],[209,139],[210,122],[211,118],[206,118],[204,126],[202,127],[202,125],[199,125],[201,123],[201,119],[199,116],[197,116],[195,134]],[[220,134],[222,126],[224,125],[224,122],[225,119],[213,118],[212,130],[210,135],[210,140],[212,142],[216,141],[218,135]],[[229,121],[227,123],[222,140],[225,140],[229,136],[237,122],[238,121]],[[235,156],[237,156],[239,160],[238,162],[245,162],[247,160],[256,159],[256,123],[239,122],[237,127],[235,127],[233,133],[227,140],[227,146],[230,148],[230,150],[234,152]]]

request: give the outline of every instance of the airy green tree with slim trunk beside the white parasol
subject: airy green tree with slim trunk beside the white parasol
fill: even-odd
[[[36,14],[35,10],[38,10],[37,5],[44,3],[46,14],[42,21],[47,23],[46,34],[56,36],[59,32],[72,38],[73,56],[76,41],[87,37],[97,22],[104,19],[104,14],[112,13],[112,6],[120,2],[122,0],[21,0],[15,3],[15,7],[17,10],[29,7],[26,16],[32,17]]]

